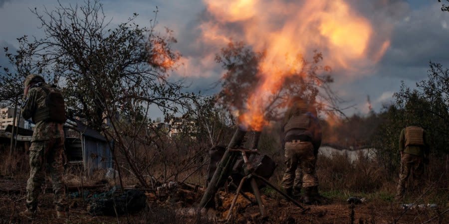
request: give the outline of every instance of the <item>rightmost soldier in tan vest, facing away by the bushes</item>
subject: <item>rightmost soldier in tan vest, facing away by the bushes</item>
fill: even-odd
[[[395,197],[397,201],[404,199],[406,183],[410,176],[413,177],[415,184],[419,184],[423,176],[424,164],[429,161],[429,145],[427,142],[426,132],[422,127],[408,126],[402,129],[399,137],[401,168]]]

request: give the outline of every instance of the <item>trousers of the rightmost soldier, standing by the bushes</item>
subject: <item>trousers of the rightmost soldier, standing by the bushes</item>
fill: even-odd
[[[404,153],[401,157],[401,168],[399,171],[399,182],[396,189],[396,200],[402,200],[406,191],[406,185],[412,178],[414,187],[421,182],[424,173],[423,157]]]

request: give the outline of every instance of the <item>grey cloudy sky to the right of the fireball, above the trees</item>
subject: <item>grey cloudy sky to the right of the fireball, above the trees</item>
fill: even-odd
[[[393,101],[401,82],[416,88],[417,82],[427,78],[430,60],[449,67],[449,13],[441,12],[437,1],[351,1],[373,24],[377,33],[371,41],[391,35],[391,43],[374,71],[353,81],[339,80],[342,74],[334,74],[335,91],[346,105],[355,105],[347,114],[366,113],[368,95],[375,111],[380,111]]]

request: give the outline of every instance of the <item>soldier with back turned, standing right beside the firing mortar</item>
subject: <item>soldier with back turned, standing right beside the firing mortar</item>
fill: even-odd
[[[316,110],[300,98],[294,98],[282,123],[286,170],[282,187],[290,196],[298,196],[304,188],[304,203],[312,204],[319,198],[318,178],[315,172],[321,131]]]

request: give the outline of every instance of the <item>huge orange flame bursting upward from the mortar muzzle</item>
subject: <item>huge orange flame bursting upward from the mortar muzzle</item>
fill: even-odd
[[[225,41],[232,36],[254,51],[266,52],[259,63],[261,82],[248,96],[246,112],[239,113],[239,121],[255,130],[268,123],[264,109],[269,98],[285,78],[303,68],[301,55],[317,49],[324,54],[325,65],[356,75],[375,65],[390,43],[372,46],[373,25],[345,0],[204,1],[217,21],[202,24],[205,39]],[[226,28],[235,24],[241,29]]]

